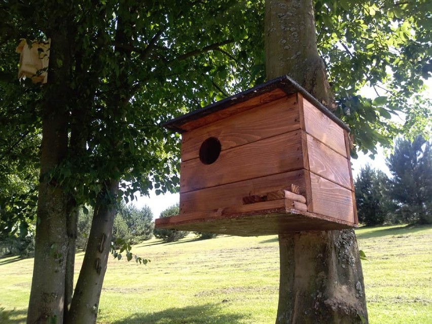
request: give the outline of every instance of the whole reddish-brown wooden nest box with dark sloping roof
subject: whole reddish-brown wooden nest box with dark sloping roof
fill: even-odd
[[[289,77],[164,126],[182,133],[180,213],[156,227],[256,236],[358,224],[349,128]]]

